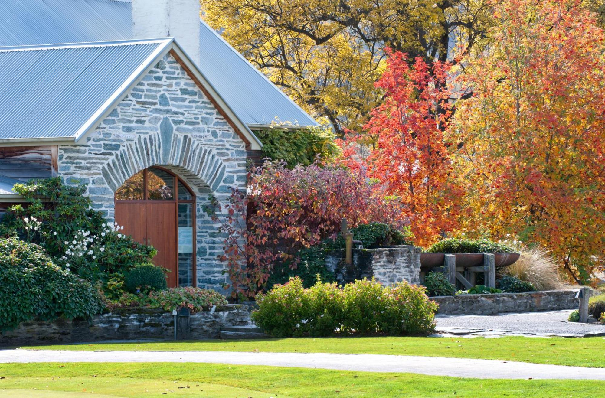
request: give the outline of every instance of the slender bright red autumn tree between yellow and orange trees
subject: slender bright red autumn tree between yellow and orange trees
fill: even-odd
[[[410,67],[400,51],[387,54],[387,70],[376,83],[386,98],[365,126],[376,137],[368,174],[384,195],[401,203],[415,243],[425,246],[456,226],[463,194],[443,139],[451,117],[451,65],[437,61],[429,67],[417,57]]]

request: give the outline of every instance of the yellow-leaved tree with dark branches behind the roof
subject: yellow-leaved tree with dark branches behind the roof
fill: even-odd
[[[383,98],[384,48],[445,62],[472,51],[486,0],[201,0],[204,19],[289,96],[332,124],[361,131]],[[456,50],[459,50],[456,48]]]

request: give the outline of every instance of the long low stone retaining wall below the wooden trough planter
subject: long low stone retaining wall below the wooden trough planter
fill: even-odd
[[[436,296],[438,314],[491,315],[504,312],[573,310],[580,305],[577,290],[498,293],[494,295]]]

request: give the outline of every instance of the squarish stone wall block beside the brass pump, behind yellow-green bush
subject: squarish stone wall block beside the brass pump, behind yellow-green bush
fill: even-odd
[[[347,266],[344,249],[340,249],[326,256],[325,265],[341,283],[374,277],[384,285],[401,281],[420,284],[420,251],[414,246],[353,249],[353,264]]]

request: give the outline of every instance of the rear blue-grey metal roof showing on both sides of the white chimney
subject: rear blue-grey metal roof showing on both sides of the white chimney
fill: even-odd
[[[2,4],[0,47],[132,39],[129,0],[11,0]],[[244,123],[317,122],[200,21],[198,68]]]

